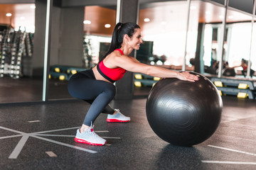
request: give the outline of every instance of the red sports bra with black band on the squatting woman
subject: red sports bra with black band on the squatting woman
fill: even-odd
[[[124,55],[122,50],[120,49],[116,49],[116,50],[121,52],[122,55]],[[114,69],[107,68],[103,60],[99,64],[97,64],[97,71],[100,72],[102,77],[104,77],[105,79],[107,79],[112,83],[114,83],[114,81],[122,79],[122,77],[124,77],[124,73],[127,72],[125,69],[122,69],[121,67],[117,67]]]

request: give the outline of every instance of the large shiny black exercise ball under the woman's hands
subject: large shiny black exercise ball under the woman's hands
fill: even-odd
[[[172,145],[197,145],[213,135],[220,123],[223,101],[218,89],[203,75],[191,74],[199,80],[157,81],[146,100],[149,125]]]

